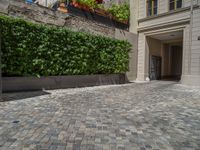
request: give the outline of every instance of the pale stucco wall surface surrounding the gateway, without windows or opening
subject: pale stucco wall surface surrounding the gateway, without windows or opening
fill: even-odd
[[[196,4],[200,0],[194,0],[194,12],[192,18],[192,28],[190,28],[190,6],[191,0],[183,0],[183,11],[168,14],[169,4],[167,0],[159,0],[158,14],[165,14],[159,17],[145,19],[146,0],[140,0],[138,4],[138,73],[137,80],[144,81],[148,77],[148,55],[149,50],[146,37],[151,34],[165,33],[173,31],[183,31],[183,66],[182,83],[200,85],[200,8]],[[141,20],[142,19],[142,20]],[[192,29],[192,32],[190,30]],[[190,34],[192,33],[192,34]],[[190,36],[192,40],[190,39]],[[146,66],[145,66],[146,65]],[[165,74],[163,72],[163,74]]]

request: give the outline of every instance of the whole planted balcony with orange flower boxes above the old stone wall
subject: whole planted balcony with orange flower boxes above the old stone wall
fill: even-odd
[[[105,25],[123,30],[129,28],[129,4],[104,2],[103,0],[26,0],[27,3],[37,3],[55,11],[80,16]]]

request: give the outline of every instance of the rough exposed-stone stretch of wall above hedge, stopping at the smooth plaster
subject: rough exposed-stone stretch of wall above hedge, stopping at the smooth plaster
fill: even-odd
[[[114,37],[115,34],[114,27],[87,18],[53,11],[40,5],[26,4],[22,0],[0,0],[0,13],[23,18],[34,23],[66,26],[75,31],[86,31],[108,37]]]

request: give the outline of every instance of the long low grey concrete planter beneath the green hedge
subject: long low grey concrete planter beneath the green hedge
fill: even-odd
[[[3,92],[62,89],[125,83],[125,74],[3,77]]]

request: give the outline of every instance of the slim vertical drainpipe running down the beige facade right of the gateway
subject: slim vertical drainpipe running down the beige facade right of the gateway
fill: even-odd
[[[190,4],[190,44],[189,44],[189,63],[188,63],[188,74],[191,74],[191,56],[192,56],[192,26],[193,26],[193,8],[194,3],[193,0],[191,0]]]

